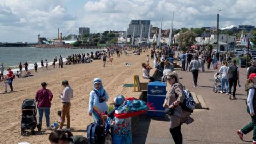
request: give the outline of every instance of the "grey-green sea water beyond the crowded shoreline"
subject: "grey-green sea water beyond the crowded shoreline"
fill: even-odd
[[[68,55],[91,53],[101,51],[102,49],[66,49],[66,48],[35,48],[35,47],[0,47],[0,65],[4,64],[4,74],[7,74],[6,69],[11,68],[13,72],[18,70],[19,63],[21,62],[24,69],[24,63],[28,63],[28,69],[34,69],[34,63],[37,62],[38,68],[41,67],[41,60],[48,65],[52,65],[53,60],[57,56],[59,60],[60,55],[65,62]]]

